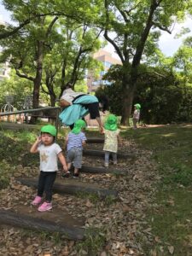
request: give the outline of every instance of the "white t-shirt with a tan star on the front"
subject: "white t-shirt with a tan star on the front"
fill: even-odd
[[[62,151],[61,147],[53,143],[50,146],[40,144],[38,152],[40,156],[40,171],[43,172],[56,172],[58,171],[57,155]]]

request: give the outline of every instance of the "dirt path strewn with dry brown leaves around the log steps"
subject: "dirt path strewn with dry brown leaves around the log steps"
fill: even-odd
[[[101,149],[102,144],[90,144],[88,148]],[[135,143],[127,141],[120,146],[119,152],[137,155],[134,161],[119,160],[117,169],[126,170],[125,176],[81,173],[79,177],[81,182],[96,183],[102,188],[118,190],[117,201],[112,202],[109,199],[94,201],[94,198],[86,196],[54,195],[51,218],[58,220],[58,212],[63,212],[66,221],[73,218],[76,223],[83,224],[90,230],[92,227],[101,229],[102,236],[106,237],[105,247],[100,253],[90,255],[82,250],[82,255],[144,255],[143,242],[150,243],[153,239],[145,219],[145,211],[154,194],[155,183],[159,179],[156,167],[151,160],[151,152],[137,148]],[[84,164],[102,166],[103,159],[84,157]],[[38,168],[31,170],[29,167],[20,165],[16,167],[15,173],[17,177],[23,177],[26,173],[28,173],[27,176],[38,177]],[[30,205],[35,192],[35,189],[15,182],[13,177],[9,188],[1,191],[0,208],[15,209],[19,212],[31,211],[32,214],[37,215],[38,213],[34,212]],[[62,221],[65,221],[65,218]],[[0,256],[80,255],[74,241],[59,240],[55,234],[47,240],[45,237],[46,234],[4,226],[0,230]]]

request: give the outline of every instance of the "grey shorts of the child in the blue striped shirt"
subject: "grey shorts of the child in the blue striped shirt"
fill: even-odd
[[[67,151],[67,163],[72,163],[75,168],[80,169],[82,166],[82,148],[71,148]]]

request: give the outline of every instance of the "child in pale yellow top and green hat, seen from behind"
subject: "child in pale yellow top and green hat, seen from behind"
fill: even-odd
[[[117,117],[114,114],[109,114],[108,119],[104,124],[105,141],[103,150],[105,151],[104,166],[108,168],[109,154],[112,154],[113,165],[117,165],[117,151],[119,140],[119,129],[117,125]]]

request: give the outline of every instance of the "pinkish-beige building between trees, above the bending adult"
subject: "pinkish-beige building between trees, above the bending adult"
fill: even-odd
[[[117,58],[114,58],[110,52],[104,49],[100,49],[98,52],[96,52],[94,54],[94,58],[102,62],[104,70],[100,72],[98,79],[94,78],[94,71],[88,72],[87,86],[89,92],[96,91],[96,89],[101,85],[110,85],[108,80],[102,79],[103,75],[108,72],[109,67],[111,67],[112,65],[121,65],[121,61],[119,61]]]

